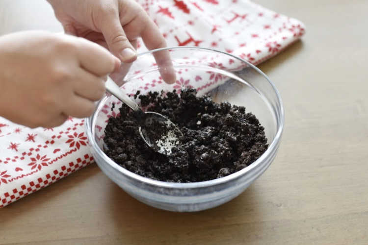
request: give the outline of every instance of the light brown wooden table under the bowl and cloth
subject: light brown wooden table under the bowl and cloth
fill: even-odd
[[[286,125],[249,189],[211,210],[171,213],[92,165],[1,209],[0,244],[367,244],[368,1],[256,1],[302,20],[307,34],[259,66]],[[62,30],[44,0],[0,1],[0,34],[35,28]]]

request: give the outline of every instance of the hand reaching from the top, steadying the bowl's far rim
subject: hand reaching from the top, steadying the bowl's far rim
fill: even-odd
[[[158,27],[135,0],[48,1],[66,33],[104,46],[124,63],[136,59],[138,37],[142,37],[148,49],[166,47]],[[174,83],[175,71],[168,51],[157,52],[155,59],[158,67],[164,68],[160,71],[162,78]]]

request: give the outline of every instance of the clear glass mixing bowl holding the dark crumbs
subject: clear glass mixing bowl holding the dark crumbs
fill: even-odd
[[[176,82],[166,84],[154,56],[169,51]],[[162,70],[163,69],[163,70]],[[170,68],[167,68],[170,69]],[[120,101],[106,96],[86,120],[88,141],[101,170],[136,199],[164,210],[192,212],[223,204],[241,194],[271,164],[276,156],[284,127],[280,95],[267,76],[254,65],[229,53],[195,47],[156,49],[138,55],[126,74],[122,87],[128,94],[137,90],[172,91],[194,87],[197,96],[209,95],[215,102],[228,101],[245,106],[265,128],[268,149],[248,167],[209,181],[170,183],[142,177],[111,160],[103,151],[104,128],[109,117],[118,114]],[[116,106],[112,108],[112,103]]]

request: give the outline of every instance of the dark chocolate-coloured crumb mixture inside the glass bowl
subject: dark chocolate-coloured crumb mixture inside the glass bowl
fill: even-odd
[[[105,153],[131,172],[168,182],[205,181],[245,168],[268,147],[263,126],[242,106],[196,97],[194,89],[183,90],[180,97],[174,91],[139,98],[149,111],[176,123],[184,136],[172,155],[154,151],[139,135],[137,115],[123,104],[121,116],[106,125]]]

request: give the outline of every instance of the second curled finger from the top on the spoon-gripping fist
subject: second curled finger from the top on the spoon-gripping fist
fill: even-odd
[[[76,82],[73,83],[76,95],[96,101],[105,95],[105,77],[98,77],[83,69],[76,74]]]

